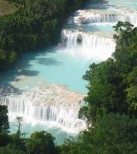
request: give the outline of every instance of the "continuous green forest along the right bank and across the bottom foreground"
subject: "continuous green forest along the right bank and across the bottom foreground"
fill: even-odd
[[[90,65],[83,76],[88,81],[88,105],[79,117],[88,128],[77,141],[68,139],[56,146],[45,131],[23,138],[21,117],[17,133],[9,135],[7,107],[0,106],[0,154],[137,153],[137,27],[119,21],[114,30],[117,46],[112,58]]]

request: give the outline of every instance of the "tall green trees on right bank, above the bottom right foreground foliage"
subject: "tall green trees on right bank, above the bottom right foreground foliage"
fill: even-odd
[[[89,83],[85,101],[93,119],[104,112],[137,117],[137,28],[118,22],[114,29],[117,34],[113,57],[90,65],[83,77]]]

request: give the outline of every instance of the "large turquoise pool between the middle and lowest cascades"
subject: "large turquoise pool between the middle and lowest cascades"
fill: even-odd
[[[15,69],[4,75],[3,80],[5,82],[12,82],[16,75],[23,75],[29,78],[29,83],[23,83],[24,88],[45,80],[45,82],[65,85],[73,91],[86,93],[85,86],[87,82],[82,79],[82,76],[85,74],[90,63],[91,61],[66,55],[63,53],[63,50],[51,48],[39,53],[25,54],[16,66],[21,68],[22,72],[17,72],[15,67]],[[11,80],[9,76],[11,76]]]

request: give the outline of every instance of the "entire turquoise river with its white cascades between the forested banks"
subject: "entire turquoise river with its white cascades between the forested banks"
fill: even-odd
[[[13,70],[0,75],[11,132],[16,131],[16,116],[23,117],[26,136],[46,130],[57,144],[86,128],[78,119],[87,93],[82,76],[93,62],[111,57],[112,26],[119,20],[137,25],[137,0],[92,0],[68,18],[58,46],[26,53]]]

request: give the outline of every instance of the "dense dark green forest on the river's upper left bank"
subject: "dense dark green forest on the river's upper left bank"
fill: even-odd
[[[18,7],[0,16],[0,70],[15,63],[26,51],[54,45],[65,19],[86,0],[9,0]],[[58,38],[57,38],[58,37]]]

